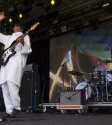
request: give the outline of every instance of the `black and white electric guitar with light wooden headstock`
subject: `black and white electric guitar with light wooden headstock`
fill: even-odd
[[[34,30],[40,23],[34,24],[28,31],[26,31],[25,34],[23,34],[21,37],[24,38],[30,31]],[[9,59],[16,54],[16,51],[14,51],[15,46],[19,43],[19,41],[14,40],[13,43],[3,51],[2,57],[1,57],[1,65],[6,65],[9,61]]]

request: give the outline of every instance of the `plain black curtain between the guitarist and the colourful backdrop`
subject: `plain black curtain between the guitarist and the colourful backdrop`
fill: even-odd
[[[40,74],[40,99],[46,81],[43,102],[49,102],[49,61],[50,61],[50,40],[44,39],[31,43],[32,53],[29,55],[27,64],[38,64]],[[45,78],[45,81],[44,79]]]

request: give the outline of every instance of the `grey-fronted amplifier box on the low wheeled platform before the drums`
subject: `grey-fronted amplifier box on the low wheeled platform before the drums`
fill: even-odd
[[[60,105],[85,105],[85,91],[62,91],[60,93]]]

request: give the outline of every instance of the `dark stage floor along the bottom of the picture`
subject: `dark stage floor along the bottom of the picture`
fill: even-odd
[[[0,112],[0,116],[4,113]],[[112,114],[75,115],[61,113],[20,113],[17,118],[8,118],[0,125],[112,125]]]

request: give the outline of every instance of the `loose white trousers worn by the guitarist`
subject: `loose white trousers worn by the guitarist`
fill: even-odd
[[[20,97],[19,97],[19,86],[7,81],[1,85],[3,98],[5,103],[6,112],[11,114],[13,109],[21,110],[20,108]]]

